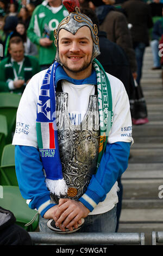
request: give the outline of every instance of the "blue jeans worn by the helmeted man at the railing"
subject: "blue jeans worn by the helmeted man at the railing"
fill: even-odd
[[[40,216],[39,227],[42,232],[54,232],[47,227],[47,221]],[[106,233],[115,232],[117,224],[116,206],[104,214],[88,215],[85,218],[84,226],[77,232],[85,233]]]

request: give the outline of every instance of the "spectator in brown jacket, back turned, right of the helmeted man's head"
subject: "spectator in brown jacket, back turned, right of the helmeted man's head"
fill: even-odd
[[[137,65],[126,16],[112,6],[115,0],[92,0],[91,4],[95,5],[99,28],[106,32],[110,41],[116,42],[126,52],[131,72],[136,78]]]

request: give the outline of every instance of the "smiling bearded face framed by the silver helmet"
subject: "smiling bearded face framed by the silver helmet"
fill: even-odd
[[[82,72],[85,78],[92,67],[93,41],[90,29],[81,27],[74,35],[61,29],[58,47],[60,62],[67,74],[74,77],[74,74],[80,76]]]

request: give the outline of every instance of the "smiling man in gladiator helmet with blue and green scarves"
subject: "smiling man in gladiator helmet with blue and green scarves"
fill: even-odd
[[[83,218],[79,231],[116,229],[116,180],[128,164],[131,117],[122,82],[95,59],[97,33],[78,8],[62,20],[54,31],[57,61],[33,77],[18,107],[28,136],[15,132],[12,142],[17,179],[41,215],[41,231],[72,232]]]

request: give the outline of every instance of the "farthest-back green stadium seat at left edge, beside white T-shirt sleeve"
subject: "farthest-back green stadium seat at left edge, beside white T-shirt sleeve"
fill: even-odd
[[[7,118],[7,143],[12,141],[12,132],[15,130],[16,112],[21,95],[15,93],[0,93],[0,114]]]

